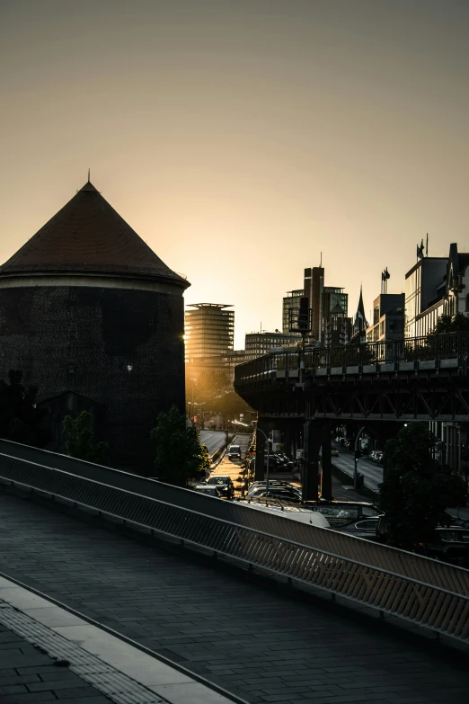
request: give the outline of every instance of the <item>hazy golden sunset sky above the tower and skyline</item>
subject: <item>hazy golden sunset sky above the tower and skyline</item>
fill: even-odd
[[[321,253],[369,315],[469,251],[468,0],[0,0],[0,94],[1,262],[90,167],[238,349]]]

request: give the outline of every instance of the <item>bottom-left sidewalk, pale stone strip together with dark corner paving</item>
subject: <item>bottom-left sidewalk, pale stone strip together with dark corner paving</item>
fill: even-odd
[[[136,645],[0,576],[2,704],[234,701]]]

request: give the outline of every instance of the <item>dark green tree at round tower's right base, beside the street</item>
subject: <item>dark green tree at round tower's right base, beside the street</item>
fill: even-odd
[[[207,446],[200,444],[197,428],[188,427],[186,416],[175,405],[167,414],[158,414],[151,437],[156,443],[155,471],[161,481],[187,486],[209,468]]]

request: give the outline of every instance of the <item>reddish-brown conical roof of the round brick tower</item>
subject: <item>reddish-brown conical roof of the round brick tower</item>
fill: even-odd
[[[25,272],[118,273],[189,286],[89,181],[0,267],[0,275]]]

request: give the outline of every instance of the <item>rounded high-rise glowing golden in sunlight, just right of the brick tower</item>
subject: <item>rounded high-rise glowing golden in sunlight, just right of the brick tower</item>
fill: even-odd
[[[226,356],[234,348],[235,311],[224,303],[193,303],[185,314],[186,361]]]

